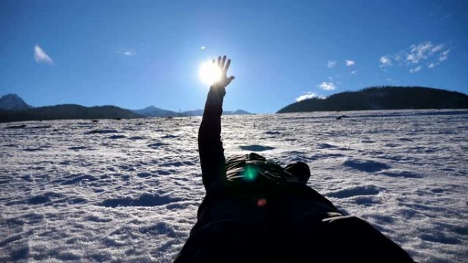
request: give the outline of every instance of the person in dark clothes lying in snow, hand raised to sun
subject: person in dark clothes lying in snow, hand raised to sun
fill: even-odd
[[[174,260],[181,262],[413,262],[363,219],[343,215],[307,186],[309,166],[281,167],[259,154],[224,158],[221,141],[226,73],[211,85],[198,132],[206,196]]]

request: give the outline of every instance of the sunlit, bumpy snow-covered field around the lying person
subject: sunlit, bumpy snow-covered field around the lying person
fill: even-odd
[[[205,193],[200,120],[0,124],[0,262],[170,262]],[[310,186],[415,260],[466,262],[467,121],[466,110],[225,116],[222,137],[226,156],[307,162]]]

